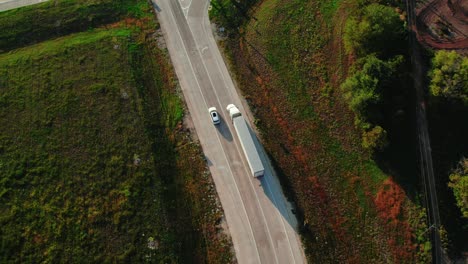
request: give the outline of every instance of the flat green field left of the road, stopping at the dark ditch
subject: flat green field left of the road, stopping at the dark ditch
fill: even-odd
[[[177,261],[171,128],[160,97],[142,104],[161,88],[138,85],[136,49],[114,29],[0,55],[0,262]]]

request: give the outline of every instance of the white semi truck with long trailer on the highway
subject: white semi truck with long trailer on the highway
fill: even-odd
[[[255,143],[244,117],[234,104],[229,104],[226,109],[229,111],[229,116],[231,117],[234,128],[236,129],[237,137],[241,143],[242,150],[244,151],[252,176],[263,176],[265,168],[263,167],[262,160],[260,159],[258,150],[255,147]]]

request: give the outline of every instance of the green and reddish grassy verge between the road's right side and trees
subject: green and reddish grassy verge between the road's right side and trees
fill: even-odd
[[[379,168],[363,148],[362,131],[339,88],[353,63],[341,38],[355,6],[260,1],[254,19],[223,45],[265,147],[301,212],[308,258],[427,261],[430,245],[420,236],[425,214],[392,180],[415,175],[387,175]]]

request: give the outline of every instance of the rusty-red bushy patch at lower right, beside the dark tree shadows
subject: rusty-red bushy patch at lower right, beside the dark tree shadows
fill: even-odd
[[[403,189],[389,178],[385,180],[374,200],[378,216],[388,234],[391,234],[388,245],[392,250],[394,263],[411,259],[417,247],[411,243],[413,234],[408,222],[400,220],[406,218],[403,207],[406,199]]]

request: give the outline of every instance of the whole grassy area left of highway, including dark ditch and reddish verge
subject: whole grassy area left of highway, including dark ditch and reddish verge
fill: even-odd
[[[2,263],[230,261],[150,7],[127,8],[111,29],[0,54]]]

